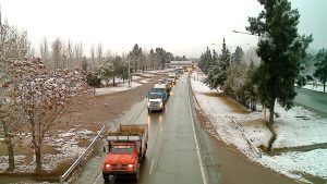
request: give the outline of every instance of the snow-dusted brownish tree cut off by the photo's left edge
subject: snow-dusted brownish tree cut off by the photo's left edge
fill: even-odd
[[[27,57],[29,45],[26,32],[20,33],[8,22],[2,24],[0,19],[0,125],[8,147],[10,171],[15,168],[12,138],[21,125],[19,123],[21,114],[17,110],[20,106],[12,100],[16,91],[14,87],[9,88],[11,77],[8,75],[8,70],[11,60]]]

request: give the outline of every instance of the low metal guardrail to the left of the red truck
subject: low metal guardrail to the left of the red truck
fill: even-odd
[[[77,160],[63,173],[59,176],[60,184],[63,184],[63,182],[68,179],[69,175],[74,171],[74,169],[80,164],[80,162],[84,159],[84,157],[89,152],[89,150],[93,148],[94,144],[99,139],[100,135],[105,131],[105,125],[101,127],[100,132],[97,134],[97,136],[93,139],[93,142],[88,145],[88,147],[84,150],[84,152],[77,158]]]

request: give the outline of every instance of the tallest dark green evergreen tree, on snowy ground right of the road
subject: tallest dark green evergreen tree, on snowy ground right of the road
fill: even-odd
[[[272,123],[276,99],[287,110],[293,106],[299,60],[313,39],[298,34],[300,13],[291,9],[288,0],[258,1],[264,11],[258,17],[249,17],[246,29],[261,36],[257,54],[263,62],[255,78],[261,101],[269,107],[269,122]]]

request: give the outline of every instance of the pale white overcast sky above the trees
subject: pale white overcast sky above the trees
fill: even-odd
[[[301,14],[300,34],[313,34],[314,49],[327,47],[327,0],[291,2]],[[257,37],[232,30],[245,30],[247,16],[262,10],[256,0],[0,0],[0,5],[2,19],[26,29],[37,50],[44,37],[60,37],[82,41],[86,54],[101,42],[113,53],[138,44],[186,57],[206,47],[220,50],[223,37],[231,49],[255,46]]]

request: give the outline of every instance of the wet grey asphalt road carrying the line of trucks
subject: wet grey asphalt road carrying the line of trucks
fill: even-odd
[[[148,123],[149,140],[140,184],[291,184],[253,163],[234,148],[211,137],[198,122],[189,76],[182,75],[164,112],[147,113],[146,101],[134,106],[120,122]],[[190,98],[191,97],[191,98]],[[102,152],[93,158],[74,183],[105,183]],[[133,183],[117,179],[112,183]]]

